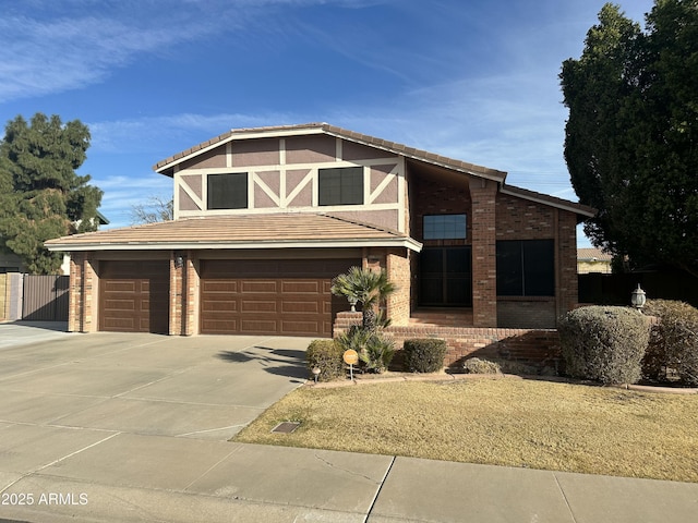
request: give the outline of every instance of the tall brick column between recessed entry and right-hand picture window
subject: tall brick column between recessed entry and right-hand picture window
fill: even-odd
[[[470,179],[473,327],[497,326],[496,194],[495,182]]]

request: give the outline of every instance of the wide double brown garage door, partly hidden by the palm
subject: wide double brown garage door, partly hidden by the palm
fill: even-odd
[[[332,336],[347,301],[332,279],[361,260],[203,260],[201,331],[208,335]]]

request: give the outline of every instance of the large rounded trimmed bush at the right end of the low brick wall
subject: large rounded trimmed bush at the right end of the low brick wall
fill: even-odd
[[[647,318],[629,307],[590,306],[557,326],[567,373],[604,385],[635,384],[649,341]]]

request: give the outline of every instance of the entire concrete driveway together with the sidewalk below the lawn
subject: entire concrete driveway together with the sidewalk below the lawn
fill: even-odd
[[[696,521],[698,484],[229,442],[303,382],[308,341],[97,333],[8,345],[0,521]]]

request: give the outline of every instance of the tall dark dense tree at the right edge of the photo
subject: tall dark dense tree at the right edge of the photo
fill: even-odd
[[[565,159],[592,243],[698,277],[698,0],[655,0],[645,31],[607,3],[561,73]]]

